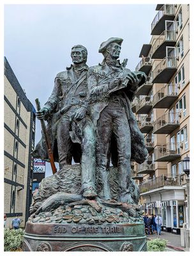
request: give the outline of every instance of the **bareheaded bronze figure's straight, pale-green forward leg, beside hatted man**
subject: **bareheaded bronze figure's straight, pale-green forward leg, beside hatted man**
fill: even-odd
[[[93,125],[86,121],[82,137],[82,191],[86,198],[97,196],[96,179],[96,140]]]

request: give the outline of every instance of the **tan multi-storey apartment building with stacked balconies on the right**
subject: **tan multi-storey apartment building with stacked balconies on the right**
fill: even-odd
[[[190,156],[190,6],[157,4],[156,11],[151,42],[142,45],[136,68],[146,73],[147,82],[132,102],[149,157],[131,164],[132,177],[142,209],[160,211],[163,230],[180,234],[188,222],[183,159]]]

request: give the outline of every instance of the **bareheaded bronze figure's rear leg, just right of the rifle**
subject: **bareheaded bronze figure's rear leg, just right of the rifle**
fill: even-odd
[[[69,134],[70,121],[66,116],[62,116],[57,127],[57,146],[59,154],[59,169],[66,164],[71,164],[72,141]]]

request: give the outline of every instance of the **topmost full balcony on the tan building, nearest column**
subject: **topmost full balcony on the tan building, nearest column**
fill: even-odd
[[[151,35],[160,35],[165,30],[165,20],[174,18],[174,4],[163,4],[151,24]]]

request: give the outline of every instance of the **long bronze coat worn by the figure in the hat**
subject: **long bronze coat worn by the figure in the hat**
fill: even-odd
[[[89,99],[91,102],[91,120],[94,127],[98,125],[100,113],[108,105],[108,98],[110,97],[110,94],[114,93],[117,95],[119,92],[123,98],[123,104],[131,131],[131,161],[137,161],[139,164],[144,163],[148,152],[144,142],[144,136],[142,132],[140,132],[137,125],[137,120],[131,111],[131,101],[135,97],[135,90],[137,90],[137,87],[127,86],[126,88],[122,88],[117,92],[113,92],[113,90],[111,93],[110,89],[108,88],[108,83],[110,83],[112,79],[116,77],[125,77],[126,74],[131,72],[130,69],[122,67],[119,65],[119,63],[117,66],[118,67],[116,68],[112,68],[105,63],[104,65],[96,65],[89,68],[87,86]],[[138,86],[146,82],[146,75],[143,72],[136,72],[136,74],[138,77],[141,77]],[[114,147],[110,148],[112,154],[112,163],[117,165],[116,142],[112,141],[112,145],[114,145]]]

